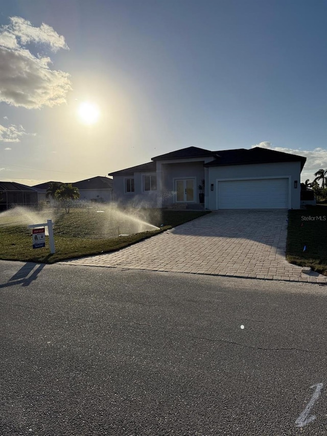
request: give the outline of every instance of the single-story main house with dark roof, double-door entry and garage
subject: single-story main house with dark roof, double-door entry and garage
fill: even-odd
[[[188,147],[111,172],[121,204],[178,209],[300,209],[306,157],[261,147]],[[204,180],[204,204],[199,185]]]

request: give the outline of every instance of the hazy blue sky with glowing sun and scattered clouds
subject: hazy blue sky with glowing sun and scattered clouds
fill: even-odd
[[[327,168],[327,2],[3,0],[0,180],[75,182],[195,146]]]

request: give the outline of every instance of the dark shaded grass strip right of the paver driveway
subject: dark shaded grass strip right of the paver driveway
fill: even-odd
[[[289,211],[286,259],[327,276],[327,205]]]

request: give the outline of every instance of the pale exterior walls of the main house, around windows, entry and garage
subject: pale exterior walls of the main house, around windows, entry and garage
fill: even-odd
[[[157,191],[143,191],[143,175],[155,174],[153,172],[136,172],[130,175],[117,175],[113,177],[113,201],[121,205],[135,207],[158,207],[161,208],[175,201],[174,179],[195,177],[195,202],[199,202],[199,190],[201,180],[205,179],[204,206],[206,209],[217,208],[217,179],[233,178],[256,178],[256,177],[290,177],[291,208],[300,209],[300,163],[282,162],[271,164],[231,165],[225,167],[204,168],[203,164],[210,162],[212,158],[198,160],[196,158],[185,159],[181,162],[176,160],[162,160],[156,162]],[[125,193],[125,179],[134,178],[134,193]],[[297,180],[297,188],[294,181]],[[211,191],[211,185],[214,190]],[[162,194],[160,194],[162,193]],[[81,192],[82,198],[82,192]]]

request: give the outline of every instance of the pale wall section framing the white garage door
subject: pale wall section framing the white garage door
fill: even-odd
[[[217,179],[285,176],[290,177],[291,208],[300,209],[300,168],[299,162],[209,167],[205,206],[211,210],[217,209]],[[297,180],[297,188],[294,188],[295,180]],[[211,191],[212,183],[214,191]]]

